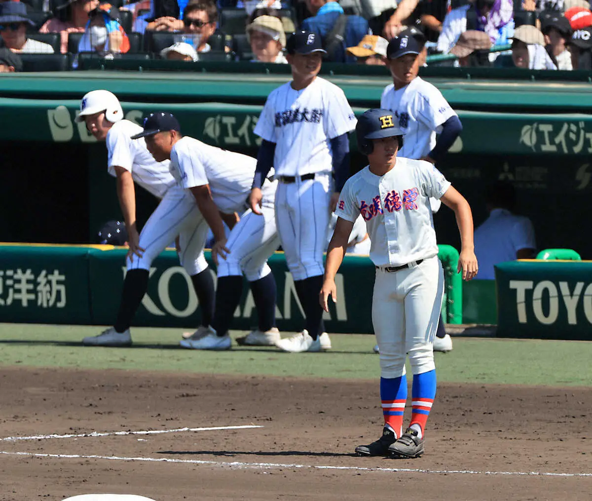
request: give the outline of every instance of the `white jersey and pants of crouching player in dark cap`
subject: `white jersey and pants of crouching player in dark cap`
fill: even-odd
[[[189,188],[209,185],[214,203],[225,214],[237,212],[240,221],[227,241],[230,253],[218,261],[218,277],[242,275],[253,282],[271,273],[267,259],[279,247],[274,215],[277,181],[263,183],[262,216],[247,210],[257,160],[192,137],[182,137],[170,153],[170,169],[179,184]],[[273,172],[271,173],[273,174]],[[194,200],[195,205],[195,200]],[[206,227],[207,232],[207,227]]]

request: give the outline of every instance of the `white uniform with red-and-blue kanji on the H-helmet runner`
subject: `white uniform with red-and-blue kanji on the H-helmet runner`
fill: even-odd
[[[414,374],[435,368],[432,343],[444,275],[429,198],[441,198],[450,185],[431,163],[397,157],[383,176],[369,167],[353,175],[337,203],[337,216],[353,223],[361,214],[370,235],[370,258],[377,266],[372,324],[382,377],[404,374],[407,353]],[[402,265],[407,267],[385,269]]]

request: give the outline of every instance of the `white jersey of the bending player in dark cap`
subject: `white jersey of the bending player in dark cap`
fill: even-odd
[[[223,213],[243,213],[247,208],[257,160],[182,137],[170,152],[170,171],[186,190],[210,185],[214,203]],[[275,184],[263,184],[263,197],[273,197]]]

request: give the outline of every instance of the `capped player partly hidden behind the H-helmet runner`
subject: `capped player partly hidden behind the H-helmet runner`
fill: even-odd
[[[400,155],[437,165],[461,133],[462,124],[442,93],[417,75],[422,65],[424,41],[413,31],[404,30],[389,42],[387,66],[393,83],[382,92],[380,107],[394,113],[395,121],[406,136]],[[430,199],[430,204],[436,213],[440,201]],[[452,339],[440,319],[434,350],[451,349]]]

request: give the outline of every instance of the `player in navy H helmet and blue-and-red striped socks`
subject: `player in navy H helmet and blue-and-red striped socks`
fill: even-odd
[[[442,200],[455,212],[462,242],[458,271],[462,269],[464,280],[477,274],[471,208],[431,163],[397,156],[404,146],[403,130],[392,111],[366,111],[359,118],[356,134],[369,166],[349,178],[341,192],[320,303],[327,311],[327,298],[333,296],[337,301],[334,277],[353,223],[361,214],[376,266],[372,325],[380,351],[384,429],[381,438],[356,447],[356,452],[414,458],[423,454],[427,417],[436,396],[432,343],[444,288],[429,197]],[[406,354],[413,371],[412,414],[402,433]]]

